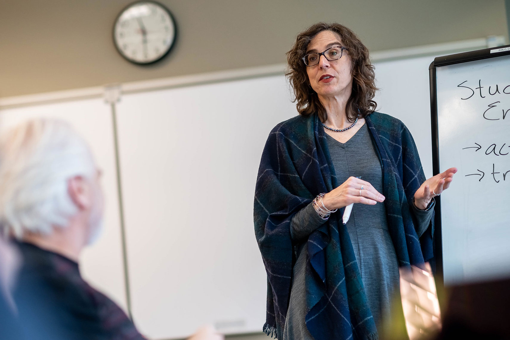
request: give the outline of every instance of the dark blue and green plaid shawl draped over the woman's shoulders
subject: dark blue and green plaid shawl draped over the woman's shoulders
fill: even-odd
[[[432,257],[431,227],[418,239],[410,211],[425,180],[413,137],[400,120],[374,112],[366,124],[383,173],[390,235],[400,265],[422,265]],[[324,129],[317,115],[278,124],[267,139],[254,200],[254,225],[267,272],[264,331],[282,338],[295,262],[292,216],[337,182]],[[308,238],[307,328],[315,339],[376,339],[375,323],[345,226],[344,209]],[[432,218],[433,221],[433,218]]]

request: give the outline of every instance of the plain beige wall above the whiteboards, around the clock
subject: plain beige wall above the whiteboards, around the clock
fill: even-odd
[[[165,60],[142,67],[111,37],[131,0],[0,0],[0,96],[281,63],[319,20],[344,23],[372,52],[507,35],[503,0],[160,1],[179,37]]]

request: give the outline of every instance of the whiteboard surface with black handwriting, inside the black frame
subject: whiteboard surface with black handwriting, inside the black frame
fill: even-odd
[[[445,284],[510,276],[508,70],[510,56],[437,67],[440,165],[458,168],[441,196]]]

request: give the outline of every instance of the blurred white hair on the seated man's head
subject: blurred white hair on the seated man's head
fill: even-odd
[[[32,119],[0,136],[0,226],[21,238],[49,234],[78,212],[68,180],[92,179],[96,166],[85,140],[57,119]]]

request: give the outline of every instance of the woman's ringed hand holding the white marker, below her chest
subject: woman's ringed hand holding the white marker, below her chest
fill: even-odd
[[[363,190],[361,190],[362,186]],[[384,200],[385,197],[375,190],[372,184],[355,177],[349,177],[347,181],[326,193],[322,198],[322,202],[328,210],[340,209],[351,203],[374,205],[377,202],[384,202]]]

